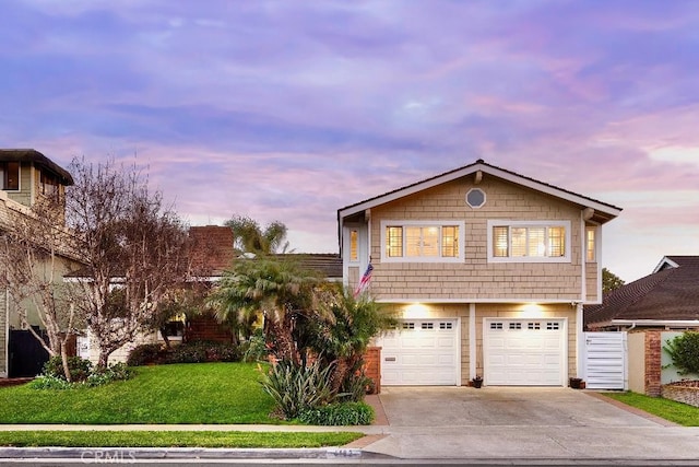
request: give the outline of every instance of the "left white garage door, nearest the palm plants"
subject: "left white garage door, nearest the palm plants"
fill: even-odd
[[[379,340],[381,384],[455,385],[459,372],[457,319],[407,319]]]

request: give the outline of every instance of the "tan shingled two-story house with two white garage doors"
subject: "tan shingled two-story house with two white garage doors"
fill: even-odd
[[[401,317],[382,385],[565,386],[621,209],[482,160],[337,211],[343,278]]]

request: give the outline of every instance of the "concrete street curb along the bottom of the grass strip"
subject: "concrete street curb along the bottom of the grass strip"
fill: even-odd
[[[73,458],[85,462],[139,459],[358,459],[362,450],[347,447],[2,447],[0,459]]]

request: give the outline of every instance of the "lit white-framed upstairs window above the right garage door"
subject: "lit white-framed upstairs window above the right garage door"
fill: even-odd
[[[488,221],[488,260],[569,261],[570,222]]]

